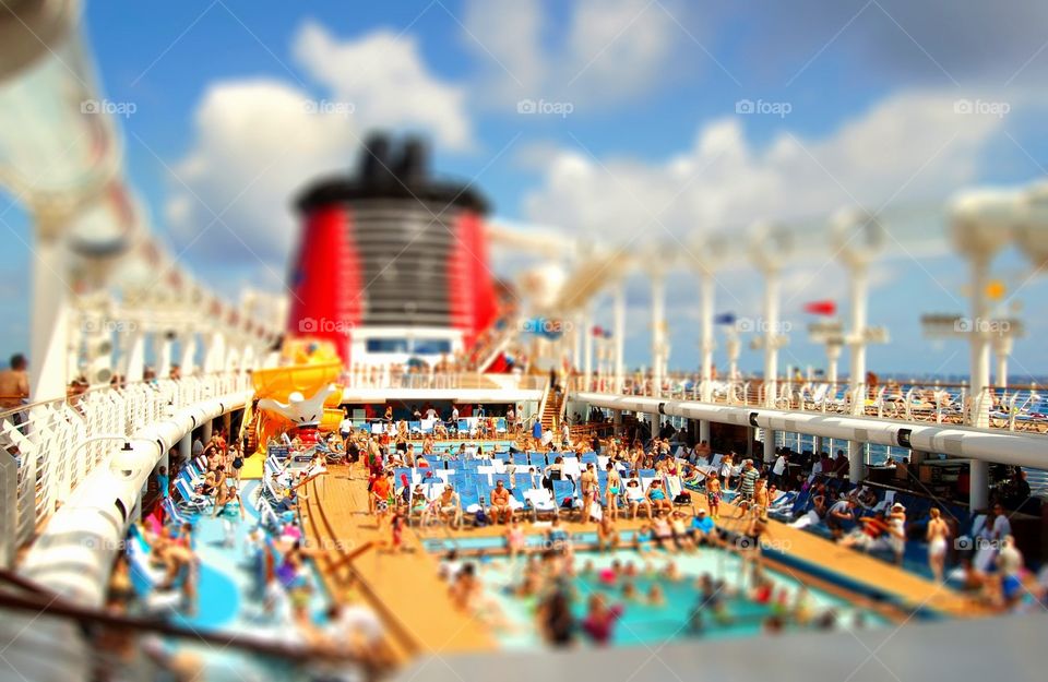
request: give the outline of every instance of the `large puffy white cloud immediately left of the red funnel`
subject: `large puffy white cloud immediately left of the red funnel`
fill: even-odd
[[[192,242],[221,214],[222,223],[207,228],[192,254],[229,262],[231,249],[255,266],[252,251],[270,266],[283,261],[297,234],[294,193],[319,172],[345,166],[354,146],[352,123],[310,110],[311,101],[271,80],[207,89],[193,146],[172,168],[178,179],[165,207],[178,244]]]

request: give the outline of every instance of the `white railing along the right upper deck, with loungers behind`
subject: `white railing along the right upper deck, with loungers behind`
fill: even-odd
[[[588,390],[615,393],[615,378],[593,378]],[[579,390],[585,390],[581,379]],[[622,379],[623,395],[701,400],[702,382],[693,376],[670,378],[662,391],[650,379],[628,375]],[[766,407],[764,382],[760,379],[714,381],[713,403],[734,406]],[[854,406],[861,403],[858,408]],[[913,383],[849,388],[846,383],[818,381],[793,382],[781,378],[775,407],[798,411],[837,415],[860,415],[898,421],[970,424],[972,395],[963,384]],[[992,430],[1048,433],[1048,409],[1034,385],[1009,390],[986,388],[975,402],[975,414],[985,410],[987,427]]]

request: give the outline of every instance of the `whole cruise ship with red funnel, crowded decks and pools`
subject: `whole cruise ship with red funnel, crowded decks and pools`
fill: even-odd
[[[867,367],[891,343],[867,319],[874,214],[704,237],[699,361],[678,371],[665,272],[593,249],[561,278],[495,275],[497,249],[569,239],[499,220],[481,183],[398,132],[286,198],[285,295],[217,290],[150,228],[78,4],[0,17],[16,123],[0,180],[35,256],[28,369],[20,355],[0,373],[0,680],[1033,680],[1048,665],[1048,404],[1009,381],[1023,325],[993,316],[988,256],[1011,240],[1043,265],[1044,179],[936,207],[972,309],[913,318],[970,347],[953,380]],[[846,322],[812,306],[831,314],[809,330],[818,370],[778,357],[799,241],[849,272]],[[728,263],[764,283],[759,318],[718,307]],[[628,320],[629,272],[651,285],[644,320]],[[636,366],[630,326],[652,336]],[[739,369],[743,343],[763,372]]]

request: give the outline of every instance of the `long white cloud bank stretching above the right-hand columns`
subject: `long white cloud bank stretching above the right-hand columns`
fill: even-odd
[[[996,116],[955,112],[954,101],[952,94],[901,94],[827,136],[784,132],[763,147],[747,140],[745,117],[716,120],[691,148],[658,164],[561,149],[524,210],[583,235],[669,239],[654,218],[683,238],[856,202],[878,208],[890,199],[941,196],[976,177],[984,144],[1001,127]]]

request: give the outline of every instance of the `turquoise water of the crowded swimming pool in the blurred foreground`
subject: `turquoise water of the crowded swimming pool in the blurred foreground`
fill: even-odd
[[[509,649],[527,649],[541,646],[535,629],[535,598],[520,598],[510,593],[512,586],[521,582],[524,559],[511,562],[508,558],[487,557],[479,561],[478,575],[485,585],[487,595],[497,605],[500,612],[496,620],[502,621],[495,629],[499,644]],[[609,569],[614,561],[621,565],[632,563],[639,575],[632,578],[619,577],[614,584],[600,581],[602,570]],[[679,581],[670,581],[660,570],[670,561],[675,562],[680,574]],[[648,564],[645,570],[645,562]],[[592,572],[583,572],[592,563]],[[735,554],[714,549],[704,549],[696,554],[668,555],[656,554],[650,560],[641,558],[632,550],[617,550],[606,554],[579,552],[575,566],[580,575],[571,581],[574,591],[572,612],[576,618],[585,614],[586,602],[591,595],[603,594],[609,605],[621,605],[622,617],[615,627],[611,643],[615,646],[651,646],[667,641],[703,638],[749,637],[764,629],[764,623],[775,612],[772,606],[777,598],[794,605],[801,583],[793,576],[765,571],[774,584],[773,599],[760,605],[746,598],[749,579],[743,575],[741,560]],[[701,626],[693,627],[691,614],[703,599],[695,585],[696,578],[708,574],[713,578],[724,579],[725,585],[718,597],[723,598],[727,619],[719,622],[708,608],[701,609]],[[636,597],[623,598],[623,586],[633,584]],[[653,585],[658,584],[665,596],[663,606],[651,606],[646,595]],[[811,621],[806,627],[815,627],[820,615],[833,612],[833,629],[876,627],[886,624],[882,617],[831,596],[824,591],[808,588],[805,597],[806,611]],[[785,630],[799,630],[800,625],[787,625]]]

